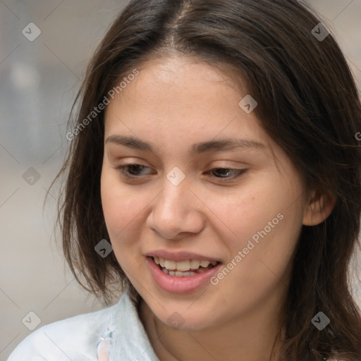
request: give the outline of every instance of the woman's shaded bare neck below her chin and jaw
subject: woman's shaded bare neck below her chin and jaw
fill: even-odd
[[[201,330],[177,330],[159,321],[145,302],[140,318],[161,361],[279,360],[281,309],[269,312],[269,305],[257,307],[246,316]],[[273,357],[271,358],[272,349]]]

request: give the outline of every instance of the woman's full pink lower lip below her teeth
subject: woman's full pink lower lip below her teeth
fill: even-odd
[[[176,277],[169,276],[169,274],[165,274],[159,268],[158,264],[154,263],[152,257],[147,257],[147,262],[149,265],[149,269],[154,277],[154,281],[156,281],[157,285],[171,293],[189,293],[198,288],[201,288],[206,283],[210,283],[209,279],[214,276],[219,271],[221,267],[221,263],[212,267],[211,269],[207,269],[200,274],[195,274],[195,276],[188,277]]]

